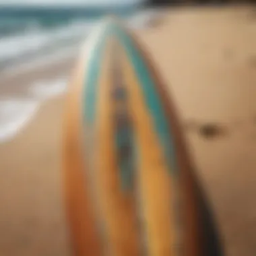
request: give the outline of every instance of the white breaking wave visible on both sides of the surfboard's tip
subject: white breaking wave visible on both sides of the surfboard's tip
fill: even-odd
[[[133,13],[123,20],[133,28],[144,27],[156,18],[156,11]],[[77,44],[90,33],[97,20],[74,20],[68,24],[42,29],[35,21],[27,24],[24,32],[0,38],[0,72],[19,62],[25,63],[50,51]],[[14,25],[13,25],[14,26]]]

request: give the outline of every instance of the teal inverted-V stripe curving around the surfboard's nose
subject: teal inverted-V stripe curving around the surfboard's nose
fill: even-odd
[[[87,77],[85,81],[84,90],[84,117],[85,121],[92,125],[95,117],[95,102],[96,94],[98,90],[98,76],[99,76],[99,66],[102,57],[102,51],[104,50],[104,44],[106,42],[106,37],[110,37],[115,34],[119,41],[122,43],[123,47],[127,51],[127,56],[129,57],[131,63],[133,64],[134,70],[136,72],[137,78],[141,84],[141,89],[143,90],[143,95],[146,98],[146,103],[152,113],[154,119],[154,125],[160,141],[165,151],[166,160],[172,168],[171,170],[177,170],[177,164],[175,160],[175,149],[174,141],[170,136],[170,127],[168,127],[168,122],[164,109],[156,91],[156,85],[151,78],[148,67],[144,64],[141,54],[137,51],[136,47],[133,45],[131,38],[119,28],[116,24],[111,24],[108,26],[102,37],[98,40],[94,51],[96,56],[88,63]]]

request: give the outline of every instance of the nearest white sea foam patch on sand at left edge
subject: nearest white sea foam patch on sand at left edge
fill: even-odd
[[[0,100],[0,142],[11,139],[21,131],[38,107],[38,100]]]

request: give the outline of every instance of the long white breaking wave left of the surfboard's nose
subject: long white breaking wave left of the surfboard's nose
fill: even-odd
[[[82,40],[92,28],[92,22],[75,22],[63,28],[47,31],[26,32],[6,36],[0,40],[0,69],[21,57],[40,55],[61,46]]]

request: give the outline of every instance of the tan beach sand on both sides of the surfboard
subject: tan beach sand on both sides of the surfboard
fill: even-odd
[[[226,255],[256,255],[252,7],[170,9],[162,24],[137,34],[177,103]],[[38,77],[67,76],[73,61],[4,77],[1,95],[22,94]],[[0,146],[0,255],[70,255],[61,183],[64,98],[45,101],[34,119]]]

